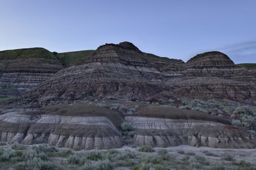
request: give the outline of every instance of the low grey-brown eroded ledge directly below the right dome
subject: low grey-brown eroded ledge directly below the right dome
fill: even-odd
[[[219,77],[178,78],[167,84],[174,85],[174,93],[201,99],[254,100],[256,86]]]

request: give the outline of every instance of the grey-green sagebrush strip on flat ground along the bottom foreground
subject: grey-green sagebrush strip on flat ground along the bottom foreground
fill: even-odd
[[[6,147],[6,146],[2,146]],[[21,147],[22,150],[18,150]],[[25,147],[25,148],[24,148]],[[12,149],[14,148],[14,149]],[[143,152],[152,151],[151,147],[141,147]],[[146,148],[146,149],[145,149]],[[60,151],[59,151],[60,150]],[[48,145],[38,145],[32,148],[19,144],[0,147],[1,169],[13,170],[255,170],[256,165],[244,160],[235,161],[227,151],[221,160],[204,156],[196,156],[194,152],[178,151],[169,154],[166,149],[159,149],[157,153],[117,151],[72,151],[57,150]],[[51,153],[51,154],[49,154]],[[53,154],[54,153],[54,154]],[[215,153],[203,151],[206,156],[216,156]],[[183,157],[183,159],[180,159]],[[63,159],[62,159],[63,158]],[[229,161],[227,163],[227,161]],[[228,165],[226,165],[228,164]]]

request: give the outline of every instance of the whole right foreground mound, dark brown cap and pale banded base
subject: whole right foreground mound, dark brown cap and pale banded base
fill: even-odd
[[[139,146],[256,147],[254,135],[231,126],[225,119],[204,113],[155,106],[141,109],[136,114],[125,117],[125,120],[133,124],[134,142]]]

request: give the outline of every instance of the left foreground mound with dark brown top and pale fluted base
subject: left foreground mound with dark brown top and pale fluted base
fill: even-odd
[[[48,143],[81,149],[122,146],[118,136],[123,118],[115,111],[89,105],[57,105],[39,111],[0,115],[0,140],[8,143]]]

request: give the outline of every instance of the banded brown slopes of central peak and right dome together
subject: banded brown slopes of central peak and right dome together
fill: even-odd
[[[90,97],[145,101],[167,92],[202,99],[253,101],[255,73],[237,67],[217,51],[198,54],[184,63],[143,53],[132,43],[123,42],[100,46],[92,56],[60,70],[24,97],[46,103]]]

